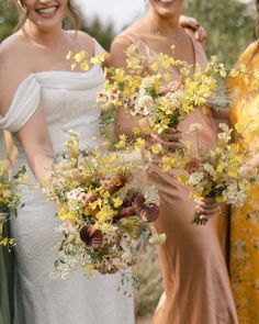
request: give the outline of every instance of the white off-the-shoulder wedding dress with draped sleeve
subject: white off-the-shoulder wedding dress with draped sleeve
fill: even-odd
[[[95,43],[95,54],[102,51]],[[103,87],[99,65],[86,72],[43,71],[30,75],[18,88],[0,129],[18,132],[34,114],[40,100],[55,153],[64,149],[65,130],[81,135],[81,148],[91,149],[100,139],[97,91]],[[18,167],[26,163],[23,148]],[[15,246],[14,324],[133,324],[133,299],[117,291],[120,275],[97,275],[87,279],[77,271],[66,280],[50,280],[54,270],[53,247],[59,241],[55,227],[56,211],[44,201],[41,190],[23,189],[25,206],[11,223]]]

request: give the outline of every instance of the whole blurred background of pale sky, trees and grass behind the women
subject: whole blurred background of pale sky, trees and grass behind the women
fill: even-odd
[[[83,31],[109,51],[113,37],[147,10],[145,0],[76,0],[81,12]],[[252,41],[256,19],[254,0],[185,0],[184,14],[194,16],[207,32],[207,55],[217,55],[232,67],[238,55]],[[0,42],[18,23],[16,10],[8,0],[0,0]],[[150,323],[162,291],[156,250],[142,246],[134,268],[140,288],[135,291],[138,324]]]

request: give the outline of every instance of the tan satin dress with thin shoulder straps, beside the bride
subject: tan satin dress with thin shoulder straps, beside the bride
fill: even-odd
[[[157,55],[135,35],[123,33],[120,37],[130,38],[146,55]],[[192,37],[191,41],[195,62],[205,68],[206,56],[202,45]],[[176,71],[173,75],[176,79],[179,78]],[[202,125],[199,146],[202,149],[213,148],[217,142],[217,131],[211,112],[195,111],[179,125],[179,130],[184,134],[192,123]],[[188,139],[196,149],[196,136],[192,134]],[[154,163],[146,176],[148,183],[155,185],[160,195],[160,215],[156,227],[159,233],[167,234],[166,243],[158,250],[165,292],[153,323],[237,323],[224,258],[226,217],[214,217],[206,226],[191,225],[194,202],[188,188],[176,180],[173,171],[161,172]]]

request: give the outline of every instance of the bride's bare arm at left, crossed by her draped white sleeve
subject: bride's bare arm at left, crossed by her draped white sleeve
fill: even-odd
[[[9,51],[10,49],[10,51]],[[14,55],[13,55],[14,53]],[[22,80],[30,74],[30,63],[21,62],[18,51],[0,48],[0,115],[4,116]],[[24,55],[21,55],[24,57]],[[24,59],[24,58],[23,58]],[[32,118],[15,134],[21,142],[29,165],[36,179],[42,182],[53,163],[53,147],[42,104]]]

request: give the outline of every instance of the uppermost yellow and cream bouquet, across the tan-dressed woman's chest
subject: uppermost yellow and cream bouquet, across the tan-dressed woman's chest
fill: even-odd
[[[204,107],[213,96],[216,75],[225,76],[225,68],[212,57],[205,71],[160,53],[146,57],[136,45],[126,51],[126,68],[106,68],[104,90],[98,100],[103,109],[125,108],[132,115],[146,118],[150,131],[162,133],[177,129],[189,113]],[[180,71],[180,80],[171,82],[173,69]]]

